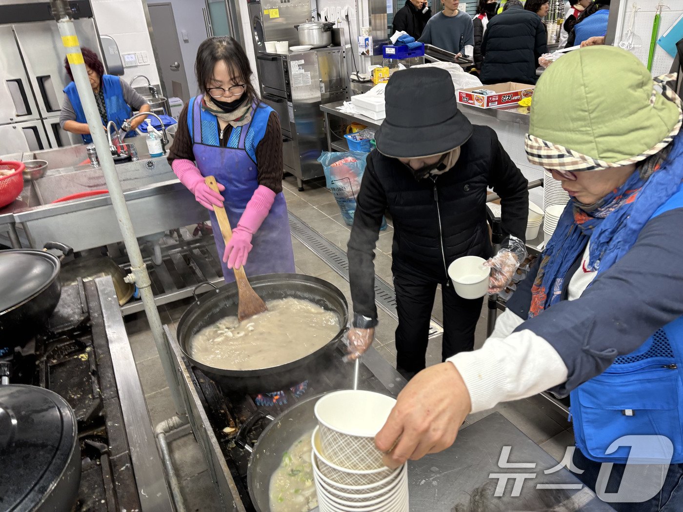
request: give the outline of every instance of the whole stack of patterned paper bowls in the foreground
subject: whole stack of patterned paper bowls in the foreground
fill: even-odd
[[[408,512],[408,464],[382,463],[374,437],[395,399],[364,390],[329,393],[315,407],[313,477],[320,512]]]

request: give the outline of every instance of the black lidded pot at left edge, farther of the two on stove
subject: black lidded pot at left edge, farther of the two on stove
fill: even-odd
[[[59,258],[36,249],[0,251],[0,354],[25,345],[55,311]]]

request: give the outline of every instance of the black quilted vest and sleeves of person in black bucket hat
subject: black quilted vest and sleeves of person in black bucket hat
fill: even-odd
[[[367,157],[348,242],[354,313],[376,319],[374,248],[382,215],[393,219],[393,271],[434,283],[447,282],[447,267],[465,255],[491,256],[486,190],[501,197],[503,232],[525,239],[527,180],[488,126],[474,126],[449,171],[415,180],[405,165],[374,150]]]

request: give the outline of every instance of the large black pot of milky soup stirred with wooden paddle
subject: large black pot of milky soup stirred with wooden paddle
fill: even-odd
[[[253,289],[263,300],[299,298],[309,300],[339,315],[339,332],[323,347],[307,356],[281,366],[258,370],[225,370],[195,360],[189,342],[195,333],[219,319],[237,315],[237,286],[230,283],[208,292],[185,311],[178,323],[178,343],[186,358],[204,371],[227,393],[268,393],[282,390],[309,378],[313,373],[329,367],[337,344],[346,332],[348,304],[337,287],[317,277],[301,274],[268,274],[249,279]],[[196,289],[195,289],[196,290]]]

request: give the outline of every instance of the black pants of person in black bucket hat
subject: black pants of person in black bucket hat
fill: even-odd
[[[398,310],[396,366],[402,373],[417,373],[426,367],[429,324],[434,307],[436,281],[404,270],[393,274]],[[441,359],[473,350],[474,331],[482,313],[482,299],[464,299],[453,285],[441,286],[443,298],[443,342]]]

